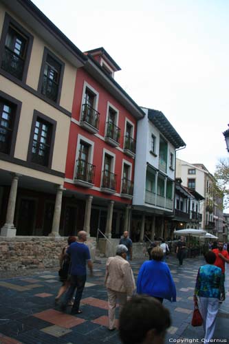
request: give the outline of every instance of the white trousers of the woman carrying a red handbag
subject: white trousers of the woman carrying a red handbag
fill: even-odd
[[[212,339],[215,332],[216,316],[219,310],[219,299],[199,297],[199,311],[203,319],[204,339]]]

